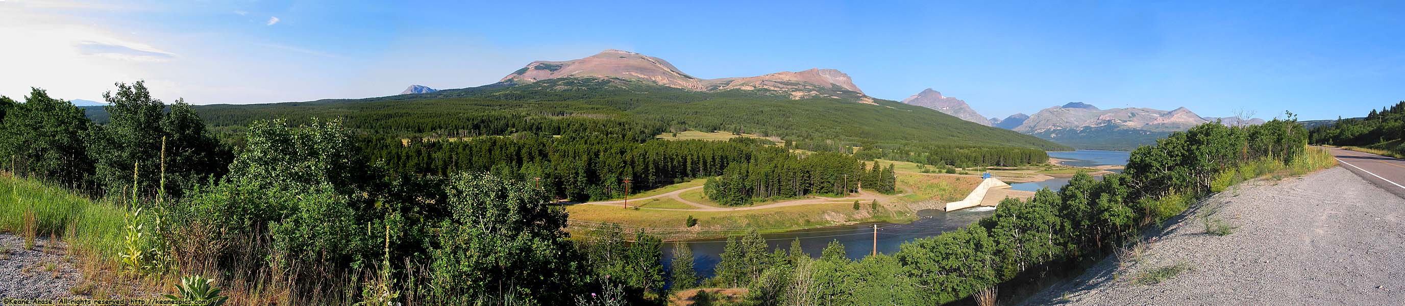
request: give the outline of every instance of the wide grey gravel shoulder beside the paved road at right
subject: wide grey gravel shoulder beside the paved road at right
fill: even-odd
[[[1205,233],[1211,213],[1234,233]],[[1026,305],[1405,305],[1405,201],[1340,167],[1241,184],[1146,239]]]

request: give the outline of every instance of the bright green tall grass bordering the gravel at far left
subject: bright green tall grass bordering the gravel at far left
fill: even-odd
[[[0,174],[0,230],[24,232],[27,213],[34,215],[35,232],[69,233],[63,240],[77,251],[111,260],[122,246],[126,211],[121,206],[38,180]]]

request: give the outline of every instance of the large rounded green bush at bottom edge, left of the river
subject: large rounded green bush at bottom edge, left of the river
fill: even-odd
[[[452,218],[433,254],[430,282],[445,305],[518,299],[569,303],[580,257],[566,240],[566,212],[531,182],[458,174],[448,187]]]

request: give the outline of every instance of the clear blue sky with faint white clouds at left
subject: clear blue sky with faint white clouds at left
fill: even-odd
[[[489,84],[603,49],[704,77],[832,67],[986,117],[1080,101],[1301,119],[1405,100],[1401,1],[0,1],[0,94],[247,104]]]

